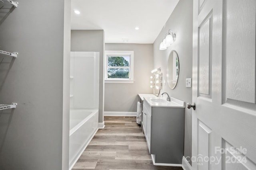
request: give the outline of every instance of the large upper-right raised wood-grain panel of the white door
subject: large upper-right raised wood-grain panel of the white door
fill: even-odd
[[[255,0],[226,0],[226,99],[255,104]]]

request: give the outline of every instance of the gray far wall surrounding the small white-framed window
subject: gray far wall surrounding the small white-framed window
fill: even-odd
[[[104,111],[136,112],[138,93],[152,93],[152,44],[106,44],[105,50],[134,51],[134,83],[105,83]]]

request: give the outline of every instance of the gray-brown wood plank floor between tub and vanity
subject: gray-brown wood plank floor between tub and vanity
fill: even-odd
[[[136,117],[105,116],[99,129],[72,170],[182,170],[154,166]]]

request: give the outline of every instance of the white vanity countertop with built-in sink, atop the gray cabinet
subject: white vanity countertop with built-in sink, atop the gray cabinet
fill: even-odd
[[[185,102],[178,100],[176,98],[170,97],[171,101],[168,102],[166,97],[157,97],[157,96],[146,96],[144,100],[151,106],[151,107],[182,107],[185,108]],[[162,99],[162,102],[154,102],[150,99]]]

